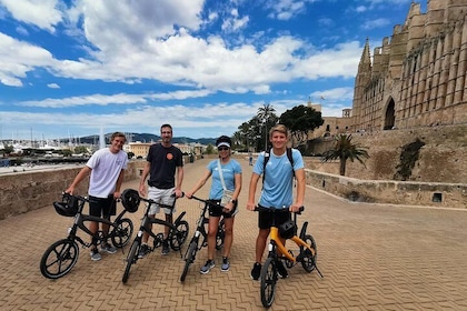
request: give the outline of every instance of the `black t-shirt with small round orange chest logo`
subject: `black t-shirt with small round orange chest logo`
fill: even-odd
[[[183,156],[180,149],[175,146],[166,148],[156,143],[149,148],[146,160],[151,163],[148,180],[150,187],[159,189],[175,187],[176,168],[183,167]]]

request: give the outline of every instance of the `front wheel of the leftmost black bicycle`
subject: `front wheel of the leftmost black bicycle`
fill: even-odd
[[[70,272],[79,257],[74,240],[62,239],[51,244],[40,260],[40,272],[48,279],[58,279]]]

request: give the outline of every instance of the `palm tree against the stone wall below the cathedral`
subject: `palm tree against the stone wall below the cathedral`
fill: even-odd
[[[328,162],[330,160],[337,160],[340,161],[339,167],[339,173],[340,175],[346,174],[346,163],[347,159],[349,159],[351,162],[354,160],[358,160],[361,164],[365,165],[364,158],[368,159],[368,152],[365,147],[360,147],[356,143],[351,142],[351,134],[337,134],[335,137],[335,147],[334,149],[329,149],[325,153],[322,153],[321,162]]]

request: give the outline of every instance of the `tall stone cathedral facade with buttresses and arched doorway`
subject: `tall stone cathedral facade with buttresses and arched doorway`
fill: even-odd
[[[374,49],[355,80],[351,131],[467,123],[467,0],[413,2],[404,24]]]

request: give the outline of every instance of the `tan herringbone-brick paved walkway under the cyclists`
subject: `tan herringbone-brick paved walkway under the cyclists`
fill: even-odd
[[[185,190],[207,161],[186,165]],[[242,210],[236,219],[229,272],[217,265],[200,274],[205,249],[180,283],[180,254],[153,252],[138,261],[123,285],[125,254],[105,254],[91,262],[89,251],[81,250],[69,274],[48,280],[39,271],[40,258],[67,235],[71,222],[50,202],[0,221],[1,310],[262,310],[259,282],[249,277],[257,233],[257,215],[245,210],[251,167],[247,161],[241,164]],[[198,194],[207,195],[208,188]],[[310,222],[325,278],[294,267],[289,279],[279,280],[270,310],[467,310],[467,212],[350,203],[311,188],[306,202],[299,221]],[[179,211],[183,209],[191,237],[198,204],[181,199]],[[131,218],[138,227],[140,212]]]

